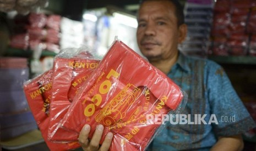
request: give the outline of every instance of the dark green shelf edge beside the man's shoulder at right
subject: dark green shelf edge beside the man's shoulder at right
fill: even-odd
[[[256,65],[255,56],[208,56],[208,59],[217,63]]]

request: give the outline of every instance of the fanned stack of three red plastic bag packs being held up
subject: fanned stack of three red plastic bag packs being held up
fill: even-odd
[[[108,132],[114,135],[110,150],[144,150],[165,126],[166,119],[155,115],[178,113],[186,104],[184,91],[119,40],[101,61],[88,53],[67,50],[55,57],[53,69],[47,76],[41,75],[41,83],[32,79],[24,85],[32,112],[38,108],[33,112],[38,116],[43,102],[49,111],[40,113],[47,121],[41,127],[48,146],[77,148],[85,124],[91,126],[89,139],[102,124],[105,129],[100,143]],[[83,62],[84,58],[88,60]],[[40,105],[30,98],[32,88],[40,94]]]

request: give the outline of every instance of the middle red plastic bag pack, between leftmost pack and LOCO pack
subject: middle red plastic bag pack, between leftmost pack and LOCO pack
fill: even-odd
[[[79,55],[72,57],[72,55]],[[68,58],[66,58],[68,55]],[[98,66],[100,60],[84,49],[66,49],[55,57],[52,75],[52,100],[50,107],[50,126],[48,138],[55,142],[70,142],[77,140],[78,132],[59,128],[70,103],[81,85]],[[68,131],[66,133],[65,131]],[[67,137],[68,136],[68,137]]]

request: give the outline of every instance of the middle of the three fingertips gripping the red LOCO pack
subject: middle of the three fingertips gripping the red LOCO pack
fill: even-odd
[[[94,149],[98,149],[99,148],[99,144],[100,144],[100,140],[101,140],[101,136],[104,130],[104,126],[103,125],[97,125],[96,130],[94,132],[94,136],[92,136],[91,141],[90,141],[90,147],[94,148]]]

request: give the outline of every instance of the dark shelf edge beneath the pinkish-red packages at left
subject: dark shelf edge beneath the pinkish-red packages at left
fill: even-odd
[[[5,56],[19,56],[19,57],[31,57],[32,50],[22,50],[17,48],[8,48],[4,53]],[[43,50],[41,56],[55,56],[56,53],[48,50]]]

